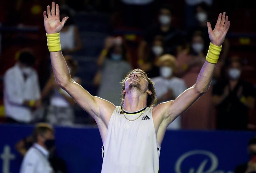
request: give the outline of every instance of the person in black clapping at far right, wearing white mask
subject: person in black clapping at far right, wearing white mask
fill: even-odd
[[[232,57],[228,62],[227,77],[213,88],[212,101],[217,109],[217,129],[246,130],[249,110],[254,108],[255,89],[241,79],[242,61]]]

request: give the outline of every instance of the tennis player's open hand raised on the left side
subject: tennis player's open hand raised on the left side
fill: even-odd
[[[52,15],[50,6],[47,6],[47,16],[46,11],[44,11],[44,28],[47,34],[55,34],[59,33],[60,30],[64,27],[65,22],[67,21],[68,17],[65,17],[60,22],[60,10],[59,5],[56,4],[56,14],[55,14],[55,3],[52,2]]]

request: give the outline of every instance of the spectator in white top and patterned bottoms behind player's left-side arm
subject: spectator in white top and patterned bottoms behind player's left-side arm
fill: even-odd
[[[71,56],[65,56],[65,60],[72,79],[81,83],[81,79],[75,77],[77,62]],[[75,102],[66,91],[57,85],[53,74],[42,91],[42,99],[49,95],[51,95],[50,106],[48,107],[46,121],[54,125],[73,125],[75,115],[72,106],[75,105]]]

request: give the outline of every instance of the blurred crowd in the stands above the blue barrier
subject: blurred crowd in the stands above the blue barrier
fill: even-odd
[[[155,82],[157,104],[193,86],[209,47],[207,21],[226,12],[231,28],[212,84],[168,129],[256,130],[256,12],[220,0],[57,0],[62,53],[74,81],[121,104],[134,68]],[[4,1],[0,7],[0,117],[3,123],[73,126],[94,120],[60,88],[51,69],[43,11],[51,1]],[[255,2],[251,3],[255,5]],[[246,11],[238,16],[236,7]],[[61,20],[60,19],[60,20]],[[250,30],[251,28],[251,30]]]

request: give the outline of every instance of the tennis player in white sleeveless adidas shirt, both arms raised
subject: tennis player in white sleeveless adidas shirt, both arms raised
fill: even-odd
[[[92,96],[70,76],[61,53],[59,33],[68,17],[60,22],[59,5],[44,11],[44,27],[50,51],[52,69],[57,84],[62,87],[96,121],[102,146],[102,173],[157,173],[161,143],[167,126],[186,111],[209,88],[221,45],[228,32],[225,12],[220,14],[214,30],[207,22],[211,40],[206,61],[196,84],[175,100],[153,108],[156,101],[154,83],[144,71],[135,69],[122,82],[123,106]],[[109,76],[111,78],[111,76]],[[118,85],[118,84],[113,84]],[[119,94],[117,92],[116,94]]]

